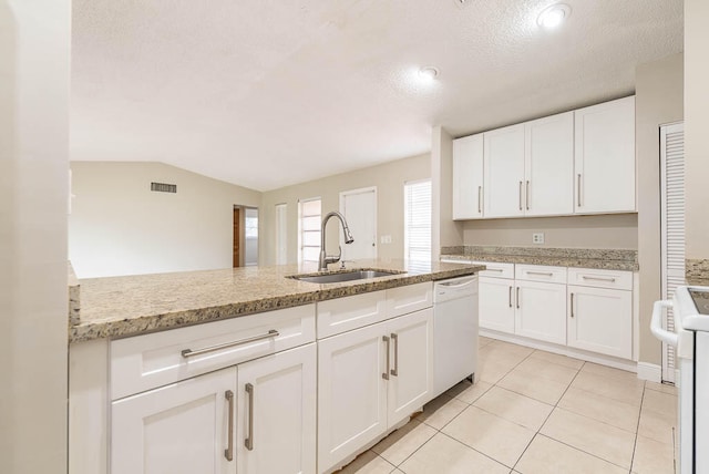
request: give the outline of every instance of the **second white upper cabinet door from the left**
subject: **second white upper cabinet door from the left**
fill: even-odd
[[[524,124],[485,132],[485,217],[524,215]]]

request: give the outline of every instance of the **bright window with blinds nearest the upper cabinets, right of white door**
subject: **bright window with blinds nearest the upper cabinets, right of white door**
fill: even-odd
[[[403,257],[431,262],[431,181],[408,182],[403,186]]]

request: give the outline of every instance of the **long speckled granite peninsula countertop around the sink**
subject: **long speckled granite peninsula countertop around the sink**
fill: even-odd
[[[82,279],[81,308],[74,315],[75,323],[70,324],[69,341],[73,343],[136,336],[147,331],[472,275],[484,269],[483,266],[476,265],[414,265],[404,260],[383,259],[359,260],[350,265],[352,268],[387,269],[403,274],[325,285],[286,278],[296,274],[316,272],[317,265],[314,264],[302,267],[246,267]]]

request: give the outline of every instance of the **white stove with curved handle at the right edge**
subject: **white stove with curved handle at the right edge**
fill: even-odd
[[[662,329],[664,307],[674,309],[677,332]],[[650,330],[677,348],[679,472],[709,473],[709,287],[678,287],[671,301],[656,301]]]

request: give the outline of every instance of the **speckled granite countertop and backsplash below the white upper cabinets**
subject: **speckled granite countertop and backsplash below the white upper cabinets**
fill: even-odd
[[[446,260],[500,261],[507,264],[552,265],[557,267],[600,268],[638,271],[637,250],[549,248],[549,247],[443,247]]]

